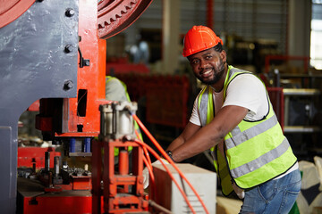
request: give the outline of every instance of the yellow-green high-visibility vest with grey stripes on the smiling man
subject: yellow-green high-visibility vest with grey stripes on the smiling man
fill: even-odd
[[[253,75],[229,66],[224,84],[224,101],[227,87],[239,75]],[[232,182],[242,189],[251,188],[273,179],[296,163],[297,159],[283,134],[267,94],[269,106],[263,119],[243,119],[225,136],[225,157],[217,145],[211,148],[214,165],[225,195],[233,192]],[[198,96],[201,126],[206,126],[215,116],[213,89],[206,86]]]

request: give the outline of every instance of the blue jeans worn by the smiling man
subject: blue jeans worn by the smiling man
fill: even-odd
[[[245,191],[240,213],[288,213],[301,191],[299,169]]]

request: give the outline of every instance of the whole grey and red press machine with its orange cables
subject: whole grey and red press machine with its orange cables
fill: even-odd
[[[151,1],[1,3],[2,213],[170,213],[149,200],[156,199],[156,179],[152,176],[148,152],[157,159],[160,156],[135,139],[133,119],[140,123],[135,115],[136,104],[105,99],[105,39],[131,25]],[[32,168],[20,171],[17,177],[18,119],[38,100],[36,128],[41,130],[43,139],[63,144],[66,157],[91,156],[91,170],[87,165],[68,166],[60,152],[47,150],[43,169],[38,170],[35,158],[31,161]],[[144,128],[141,123],[140,127]],[[159,150],[166,157],[165,151]],[[174,164],[169,157],[166,159]],[[143,162],[151,174],[149,195],[143,189]],[[165,169],[189,210],[196,213],[179,181]],[[180,171],[175,165],[174,169]],[[184,180],[199,200],[194,204],[208,213],[190,182],[182,173],[181,177],[177,180]]]

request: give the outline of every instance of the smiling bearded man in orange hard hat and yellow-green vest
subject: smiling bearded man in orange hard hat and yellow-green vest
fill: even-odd
[[[166,152],[180,162],[210,149],[223,193],[234,190],[243,200],[240,213],[288,213],[301,190],[297,159],[266,87],[252,73],[229,66],[222,45],[204,26],[185,35],[183,56],[207,86]]]

